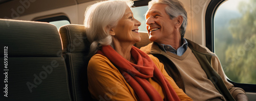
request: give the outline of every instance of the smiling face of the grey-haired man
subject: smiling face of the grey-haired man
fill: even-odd
[[[175,21],[165,12],[165,4],[154,4],[146,14],[146,28],[150,41],[164,43],[174,34]]]

